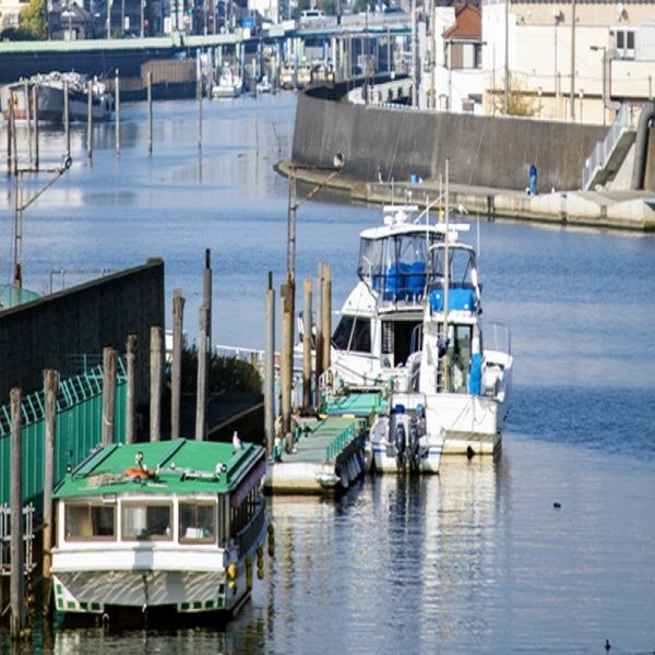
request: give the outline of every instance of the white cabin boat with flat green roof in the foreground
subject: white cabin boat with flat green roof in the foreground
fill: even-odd
[[[177,439],[97,449],[56,488],[55,609],[233,616],[261,567],[264,449]]]

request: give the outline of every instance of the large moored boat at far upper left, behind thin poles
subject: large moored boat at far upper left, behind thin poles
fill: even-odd
[[[68,85],[69,120],[84,122],[88,118],[88,80],[80,73],[51,72],[34,75],[0,90],[0,105],[5,118],[9,103],[13,100],[15,120],[34,120],[34,92],[37,93],[38,120],[62,122],[64,120],[64,88]],[[93,121],[107,121],[114,116],[114,96],[98,80],[91,81],[91,111]]]

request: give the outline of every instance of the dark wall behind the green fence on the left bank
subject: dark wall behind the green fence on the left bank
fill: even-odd
[[[150,396],[150,330],[165,326],[164,262],[129,269],[0,311],[0,404],[12,386],[26,395],[43,389],[43,370],[80,372],[82,356],[100,364],[103,348],[126,352],[139,338],[136,403]]]

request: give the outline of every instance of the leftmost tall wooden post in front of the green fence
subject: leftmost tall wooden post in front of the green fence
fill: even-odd
[[[23,420],[21,390],[11,390],[11,580],[10,635],[21,636],[25,624],[25,558],[23,552]]]

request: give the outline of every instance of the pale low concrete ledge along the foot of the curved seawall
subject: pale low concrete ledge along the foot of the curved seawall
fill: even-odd
[[[277,170],[289,175],[291,163],[281,162]],[[346,164],[347,166],[347,164]],[[296,167],[298,180],[340,189],[354,202],[389,204],[406,202],[426,205],[439,198],[439,184],[417,182],[362,182],[347,175],[332,176],[330,171]],[[454,213],[463,207],[469,215],[489,221],[510,219],[574,226],[595,229],[616,229],[655,233],[655,194],[648,191],[552,191],[538,195],[491,187],[450,184],[450,204]]]

